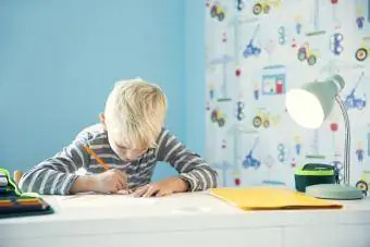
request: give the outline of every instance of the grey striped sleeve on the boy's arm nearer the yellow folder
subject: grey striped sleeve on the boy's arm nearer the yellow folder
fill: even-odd
[[[158,139],[158,161],[169,162],[187,181],[192,192],[217,187],[218,174],[200,156],[188,150],[168,129]]]

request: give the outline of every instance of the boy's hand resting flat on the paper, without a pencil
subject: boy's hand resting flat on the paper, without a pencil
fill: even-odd
[[[180,177],[170,177],[157,183],[147,184],[135,189],[134,197],[166,196],[173,193],[184,193],[189,188],[189,184]]]

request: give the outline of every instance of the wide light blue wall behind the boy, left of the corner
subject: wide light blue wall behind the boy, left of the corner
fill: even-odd
[[[158,83],[170,102],[168,126],[185,141],[183,4],[0,1],[0,166],[26,170],[54,155],[98,121],[120,78]]]

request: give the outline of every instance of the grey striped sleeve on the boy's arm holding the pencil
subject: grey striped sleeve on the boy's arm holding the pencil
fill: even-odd
[[[83,146],[90,137],[89,129],[84,129],[61,152],[26,172],[20,181],[21,190],[44,195],[67,195],[78,177],[75,171],[89,162],[89,156]]]

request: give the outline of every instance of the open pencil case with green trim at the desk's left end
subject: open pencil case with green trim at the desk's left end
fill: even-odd
[[[0,169],[0,219],[53,212],[38,194],[22,193],[7,170]]]

